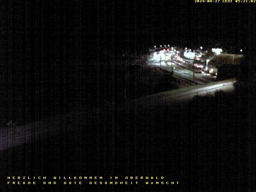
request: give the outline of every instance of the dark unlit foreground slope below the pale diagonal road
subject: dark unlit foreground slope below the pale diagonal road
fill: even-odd
[[[247,90],[248,91],[248,90]],[[252,191],[255,101],[216,93],[188,104],[115,104],[67,116],[58,135],[0,151],[4,191]],[[117,110],[118,108],[118,110]],[[63,125],[64,124],[64,125]],[[55,128],[57,128],[55,124]],[[52,130],[55,129],[52,127]],[[164,176],[179,185],[7,186],[6,176]],[[57,185],[57,184],[56,184]],[[51,188],[51,189],[50,189]]]

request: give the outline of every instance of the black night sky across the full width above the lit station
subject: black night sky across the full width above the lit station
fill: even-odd
[[[120,50],[142,52],[155,44],[211,48],[218,43],[239,51],[255,40],[253,3],[8,1],[4,12],[2,33],[8,32],[14,49],[26,43],[38,49],[54,45],[51,51],[75,47],[83,53],[95,49],[93,53],[114,50],[118,54]]]

